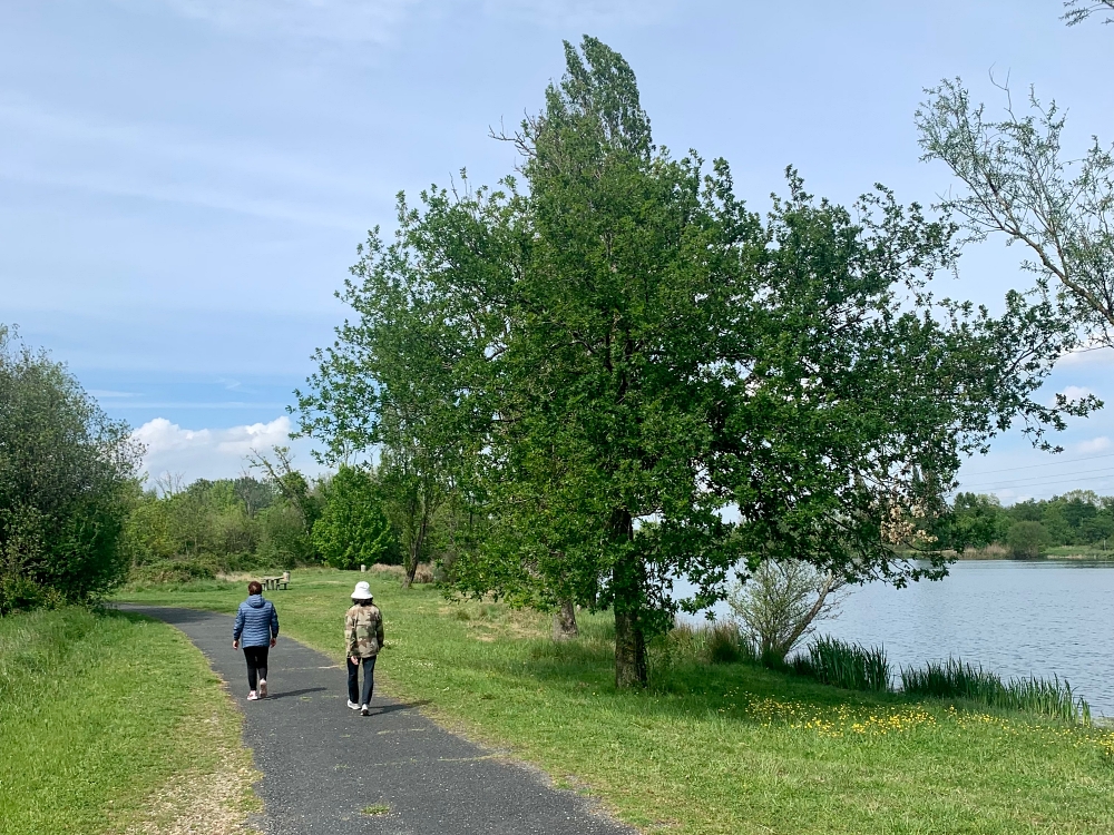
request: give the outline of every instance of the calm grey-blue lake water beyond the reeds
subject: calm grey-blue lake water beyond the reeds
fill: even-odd
[[[950,572],[905,589],[852,587],[817,631],[885,646],[895,670],[950,655],[1003,677],[1056,674],[1114,716],[1114,563],[977,560]]]

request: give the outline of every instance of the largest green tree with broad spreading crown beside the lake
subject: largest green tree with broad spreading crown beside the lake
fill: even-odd
[[[696,609],[740,560],[940,576],[925,529],[960,454],[1085,411],[1030,399],[1066,326],[1016,294],[1000,318],[934,299],[954,228],[885,189],[852,214],[790,171],[760,217],[725,161],[654,145],[619,55],[585,38],[566,66],[507,137],[520,181],[423,193],[369,243],[304,431],[390,448],[361,422],[420,403],[485,520],[457,588],[609,607],[619,686],[645,682],[676,578]]]

